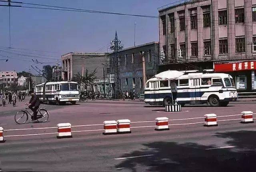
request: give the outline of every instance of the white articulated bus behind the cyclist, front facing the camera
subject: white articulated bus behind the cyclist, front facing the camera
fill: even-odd
[[[76,104],[79,101],[78,83],[72,81],[45,82],[36,85],[36,94],[41,102],[50,104],[55,102],[58,105],[70,102]]]

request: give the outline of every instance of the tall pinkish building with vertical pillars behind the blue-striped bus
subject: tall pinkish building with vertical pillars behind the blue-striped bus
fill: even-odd
[[[158,10],[160,70],[195,65],[232,75],[239,91],[256,89],[256,0],[186,0]]]

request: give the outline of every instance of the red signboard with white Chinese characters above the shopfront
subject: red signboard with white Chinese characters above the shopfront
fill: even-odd
[[[256,62],[214,64],[215,72],[232,72],[240,70],[256,70]]]

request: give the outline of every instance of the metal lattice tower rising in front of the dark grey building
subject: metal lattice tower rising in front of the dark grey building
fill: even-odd
[[[115,57],[113,61],[113,71],[114,71],[114,96],[118,98],[118,92],[120,91],[120,78],[119,78],[119,58],[118,51],[122,50],[124,46],[121,44],[121,41],[117,38],[117,33],[115,39],[110,41],[110,49],[114,51]]]

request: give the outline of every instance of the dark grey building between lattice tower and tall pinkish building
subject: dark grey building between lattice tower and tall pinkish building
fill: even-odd
[[[146,77],[151,78],[157,72],[159,64],[158,42],[149,42],[146,44],[125,48],[118,52],[119,77],[121,90],[130,91],[135,88],[136,92],[143,92],[142,81],[142,56],[145,56]],[[110,73],[114,74],[115,53],[109,54]],[[114,80],[110,78],[110,82]]]

